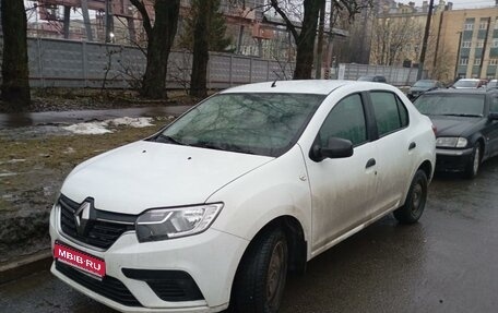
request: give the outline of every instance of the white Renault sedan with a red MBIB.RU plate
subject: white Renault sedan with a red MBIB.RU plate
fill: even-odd
[[[66,284],[128,312],[276,312],[287,270],[393,212],[423,214],[435,133],[395,87],[216,94],[79,165],[50,215]]]

